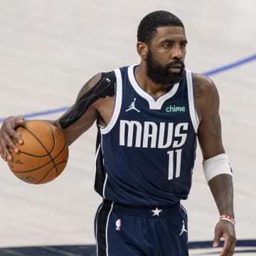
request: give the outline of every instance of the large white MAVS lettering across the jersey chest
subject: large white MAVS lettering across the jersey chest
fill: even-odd
[[[188,122],[138,122],[120,120],[119,145],[166,149],[186,142]]]

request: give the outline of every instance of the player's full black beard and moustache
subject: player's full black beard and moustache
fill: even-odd
[[[149,49],[149,53],[146,56],[146,73],[149,78],[156,83],[161,85],[174,85],[176,82],[179,82],[183,75],[183,70],[185,65],[182,60],[175,60],[173,63],[166,65],[161,65],[156,60],[154,60],[153,54]],[[181,64],[181,71],[179,73],[171,72],[171,66]]]

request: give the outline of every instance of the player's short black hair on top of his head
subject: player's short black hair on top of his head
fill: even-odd
[[[137,41],[150,43],[151,38],[156,33],[156,28],[163,26],[181,26],[184,28],[181,20],[169,11],[154,11],[147,14],[139,23]]]

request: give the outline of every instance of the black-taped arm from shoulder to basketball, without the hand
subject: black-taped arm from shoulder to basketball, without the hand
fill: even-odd
[[[109,99],[114,98],[114,73],[100,73],[91,78],[79,92],[75,104],[55,121],[63,130],[68,145],[78,139],[97,119],[107,124],[112,114]],[[104,110],[104,111],[103,111]]]

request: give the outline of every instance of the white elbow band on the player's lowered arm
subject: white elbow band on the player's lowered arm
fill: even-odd
[[[218,154],[210,159],[203,161],[203,171],[206,176],[207,183],[217,175],[228,174],[233,176],[228,156],[226,154]]]

